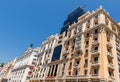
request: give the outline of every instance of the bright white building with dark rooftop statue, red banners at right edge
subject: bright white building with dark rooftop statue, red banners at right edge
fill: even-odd
[[[39,48],[29,47],[24,54],[16,60],[8,82],[28,82],[37,59]]]

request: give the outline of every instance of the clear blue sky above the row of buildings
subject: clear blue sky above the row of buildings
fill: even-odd
[[[72,10],[85,4],[86,11],[103,5],[120,21],[120,0],[0,0],[0,62],[19,57],[31,43],[39,47],[60,32]]]

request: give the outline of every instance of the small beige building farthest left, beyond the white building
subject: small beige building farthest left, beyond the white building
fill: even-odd
[[[13,61],[5,64],[3,68],[0,68],[0,82],[8,81],[8,78],[10,76],[11,70],[14,67],[15,62],[16,62],[16,58]]]

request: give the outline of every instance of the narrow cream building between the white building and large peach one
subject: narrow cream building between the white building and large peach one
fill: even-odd
[[[46,78],[48,63],[52,61],[52,53],[58,38],[57,34],[51,35],[42,43],[31,81],[43,81]]]

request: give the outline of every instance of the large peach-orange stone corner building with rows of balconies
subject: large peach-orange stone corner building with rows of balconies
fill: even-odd
[[[37,75],[41,64],[30,82],[120,82],[119,35],[120,25],[101,6],[82,14],[58,35],[44,78]]]

